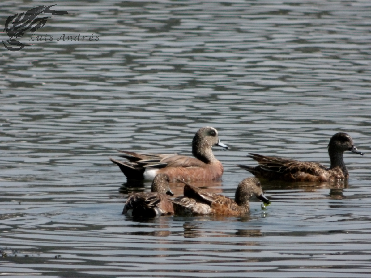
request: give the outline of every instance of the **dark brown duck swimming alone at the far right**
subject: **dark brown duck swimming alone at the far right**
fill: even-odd
[[[291,182],[330,182],[344,180],[349,177],[343,159],[343,152],[346,150],[363,155],[353,145],[353,140],[347,133],[338,132],[331,137],[328,144],[328,154],[331,161],[330,168],[326,168],[315,162],[301,162],[287,158],[257,155],[256,153],[250,153],[248,157],[255,159],[259,163],[258,166],[237,166],[246,169],[257,178],[269,180],[276,179]]]

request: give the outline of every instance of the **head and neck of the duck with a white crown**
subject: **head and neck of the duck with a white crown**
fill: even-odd
[[[211,151],[212,146],[219,146],[228,149],[227,145],[220,142],[216,129],[205,126],[197,130],[192,140],[193,155],[205,163],[216,160]]]

